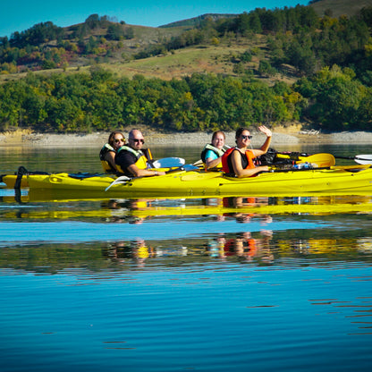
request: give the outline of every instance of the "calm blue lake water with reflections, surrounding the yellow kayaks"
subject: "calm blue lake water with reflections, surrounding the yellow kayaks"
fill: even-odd
[[[0,173],[100,171],[96,149],[0,154]],[[0,189],[1,370],[369,371],[372,197],[258,201]]]

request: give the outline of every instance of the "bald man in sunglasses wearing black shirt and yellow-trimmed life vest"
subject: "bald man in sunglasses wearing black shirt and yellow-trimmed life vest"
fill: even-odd
[[[128,135],[128,145],[118,149],[115,156],[115,164],[121,173],[128,177],[143,177],[151,175],[163,175],[165,172],[147,169],[149,151],[143,149],[145,139],[141,131],[132,129]]]

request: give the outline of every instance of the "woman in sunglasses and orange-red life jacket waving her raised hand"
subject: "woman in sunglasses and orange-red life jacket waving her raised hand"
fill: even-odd
[[[272,132],[265,125],[258,127],[258,131],[266,134],[266,140],[259,149],[250,148],[250,139],[252,136],[246,128],[240,128],[235,133],[235,148],[229,148],[222,157],[224,173],[233,173],[237,177],[250,177],[259,172],[268,171],[267,165],[255,166],[253,159],[257,156],[266,154]]]

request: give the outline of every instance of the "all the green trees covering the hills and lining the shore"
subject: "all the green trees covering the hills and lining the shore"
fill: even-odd
[[[39,23],[10,39],[0,38],[0,70],[17,72],[26,64],[50,69],[68,63],[72,55],[108,56],[120,40],[133,38],[124,25],[97,14],[68,33],[52,22]],[[300,120],[325,131],[372,131],[371,27],[372,8],[350,19],[332,18],[330,12],[319,18],[302,5],[206,17],[197,27],[134,57],[255,34],[265,39],[266,54],[247,50],[232,58],[234,77],[194,74],[164,81],[140,75],[119,79],[99,68],[49,77],[30,72],[0,86],[0,130],[106,131],[147,124],[166,131],[213,131]],[[105,37],[89,34],[97,28],[105,30]],[[248,67],[253,55],[259,59],[255,72]],[[281,82],[269,87],[253,79],[254,74],[285,74],[288,66],[299,79],[293,86]]]

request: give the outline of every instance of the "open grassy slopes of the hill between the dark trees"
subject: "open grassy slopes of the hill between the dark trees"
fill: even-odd
[[[323,16],[325,11],[330,9],[333,16],[342,14],[351,16],[364,6],[372,6],[372,0],[321,0],[309,6],[312,6],[319,16]],[[246,50],[255,49],[249,67],[255,73],[256,77],[262,79],[258,72],[259,60],[265,59],[267,55],[266,41],[267,35],[249,36],[249,38],[225,36],[219,38],[215,44],[201,44],[199,46],[184,47],[176,49],[172,53],[165,52],[157,56],[135,59],[133,56],[146,50],[150,46],[161,45],[172,38],[179,37],[185,30],[192,30],[207,18],[218,20],[224,17],[231,18],[233,14],[204,14],[189,20],[182,20],[170,23],[159,28],[150,28],[144,26],[133,26],[125,23],[113,23],[105,21],[99,23],[99,27],[85,30],[83,36],[79,36],[84,24],[72,25],[64,28],[63,42],[74,48],[75,51],[69,51],[61,55],[62,62],[56,67],[43,69],[38,61],[26,61],[24,65],[17,67],[17,73],[0,73],[0,82],[18,79],[27,72],[35,71],[37,73],[66,72],[73,73],[88,69],[91,65],[102,65],[105,68],[117,73],[119,76],[132,77],[134,74],[143,74],[148,77],[156,77],[165,80],[172,78],[181,78],[190,75],[193,72],[215,72],[226,75],[234,75],[233,67],[236,63],[236,57]],[[120,38],[119,40],[107,39],[107,30],[110,25],[115,24],[120,27],[123,33],[131,33],[130,38]],[[88,44],[89,40],[96,40],[97,47],[93,48],[89,54],[80,53],[80,43]],[[38,46],[38,50],[45,49],[54,53],[58,50],[56,39],[47,40],[43,45]],[[63,62],[64,61],[64,62]],[[41,71],[39,71],[41,70]],[[276,74],[273,80],[293,81],[292,69],[288,66],[286,72]]]

